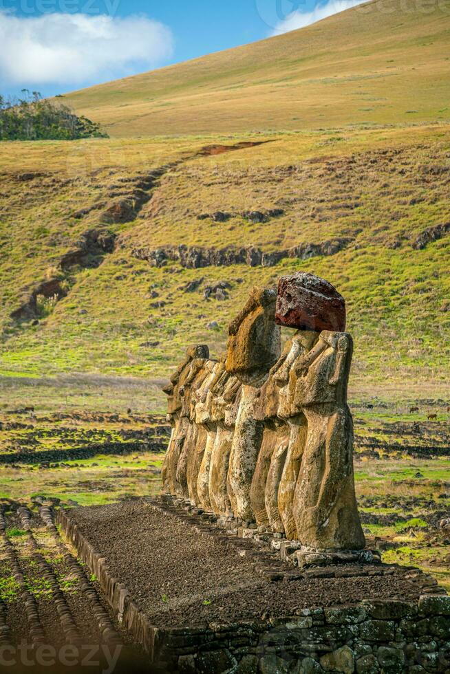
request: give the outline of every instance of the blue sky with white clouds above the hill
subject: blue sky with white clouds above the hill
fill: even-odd
[[[0,92],[45,95],[301,28],[360,0],[0,0]]]

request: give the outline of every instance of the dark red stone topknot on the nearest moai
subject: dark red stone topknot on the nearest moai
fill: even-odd
[[[345,300],[331,283],[314,274],[281,276],[275,321],[300,330],[343,332]]]

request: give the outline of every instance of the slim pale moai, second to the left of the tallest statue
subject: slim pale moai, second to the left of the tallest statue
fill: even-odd
[[[219,393],[222,380],[226,378],[225,358],[216,362],[213,367],[213,380],[208,386],[208,392],[203,394],[202,400],[195,406],[195,418],[198,425],[206,429],[206,444],[202,457],[202,463],[197,476],[198,505],[203,510],[212,511],[209,498],[209,474],[211,471],[211,457],[217,435],[217,422],[213,418],[213,401]]]

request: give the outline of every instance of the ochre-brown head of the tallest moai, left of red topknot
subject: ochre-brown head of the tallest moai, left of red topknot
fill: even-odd
[[[275,325],[275,290],[254,287],[228,332],[226,369],[243,384],[261,386],[281,352],[280,329]]]

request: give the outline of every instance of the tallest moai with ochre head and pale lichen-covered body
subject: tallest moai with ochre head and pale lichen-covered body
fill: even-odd
[[[275,325],[276,293],[254,287],[242,312],[229,327],[226,369],[242,382],[228,469],[228,496],[235,517],[255,521],[250,488],[263,438],[264,424],[255,418],[259,387],[281,351]]]

